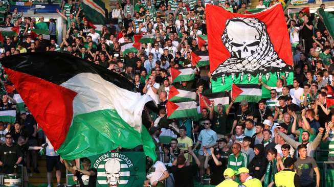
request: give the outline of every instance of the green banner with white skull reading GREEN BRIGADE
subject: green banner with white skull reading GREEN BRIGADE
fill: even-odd
[[[97,169],[97,187],[136,187],[144,184],[144,152],[107,152],[88,158],[92,167]]]

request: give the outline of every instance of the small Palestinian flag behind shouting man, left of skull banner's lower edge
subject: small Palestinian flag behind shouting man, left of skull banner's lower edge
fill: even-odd
[[[203,96],[203,99],[202,99],[201,96]],[[199,96],[200,97],[199,98],[199,106],[201,107],[201,111],[203,110],[203,108],[207,108],[203,100],[205,100],[208,105],[214,104],[214,110],[215,111],[217,111],[217,105],[218,104],[222,104],[225,109],[230,104],[230,97],[225,91],[224,92],[203,94],[201,96]]]

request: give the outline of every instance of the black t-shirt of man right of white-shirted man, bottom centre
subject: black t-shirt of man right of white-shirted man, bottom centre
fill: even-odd
[[[171,173],[173,174],[175,187],[193,187],[193,176],[197,173],[197,165],[185,166],[182,168],[177,168],[173,166],[171,168]]]

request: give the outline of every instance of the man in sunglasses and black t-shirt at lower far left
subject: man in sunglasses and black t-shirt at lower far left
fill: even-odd
[[[6,144],[0,146],[0,172],[13,173],[14,166],[18,165],[23,154],[17,145],[13,144],[13,136],[10,132],[5,135]]]

